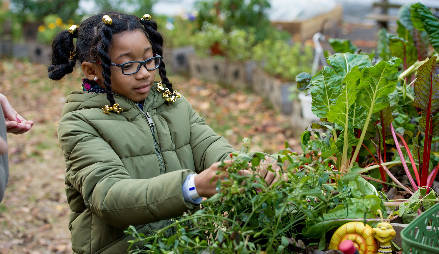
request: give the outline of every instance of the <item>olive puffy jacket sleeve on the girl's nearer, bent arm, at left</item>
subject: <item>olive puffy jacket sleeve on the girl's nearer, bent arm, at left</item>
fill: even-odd
[[[131,179],[110,144],[78,112],[61,118],[58,139],[67,165],[66,181],[82,195],[93,214],[110,225],[126,228],[175,218],[194,208],[184,202],[181,191],[190,170]]]

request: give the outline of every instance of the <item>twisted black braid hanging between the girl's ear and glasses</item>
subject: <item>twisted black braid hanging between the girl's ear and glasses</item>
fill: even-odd
[[[110,105],[113,105],[115,104],[115,100],[111,89],[110,79],[111,58],[108,55],[108,50],[111,46],[112,29],[108,25],[102,25],[101,29],[98,31],[96,39],[97,41],[100,41],[100,43],[97,45],[97,55],[101,57],[102,76],[104,77],[104,86],[107,93],[107,99],[110,101]]]

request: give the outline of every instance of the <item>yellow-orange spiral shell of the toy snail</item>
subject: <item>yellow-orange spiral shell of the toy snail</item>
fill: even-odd
[[[376,254],[378,244],[372,235],[372,227],[363,222],[348,222],[339,227],[331,237],[330,250],[338,250],[344,240],[352,240],[360,254]]]

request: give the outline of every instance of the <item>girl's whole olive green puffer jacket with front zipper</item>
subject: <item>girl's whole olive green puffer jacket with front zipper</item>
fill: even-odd
[[[144,102],[146,113],[118,95],[120,114],[104,114],[102,93],[72,91],[67,97],[58,139],[75,254],[125,253],[129,225],[152,234],[194,209],[181,190],[186,176],[234,152],[186,98],[165,103],[155,87]]]

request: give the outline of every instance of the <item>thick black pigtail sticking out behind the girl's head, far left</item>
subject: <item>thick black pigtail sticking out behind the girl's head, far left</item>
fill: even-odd
[[[52,64],[47,68],[49,79],[59,80],[73,72],[76,59],[72,61],[70,52],[74,52],[73,35],[68,30],[60,32],[52,42]]]

